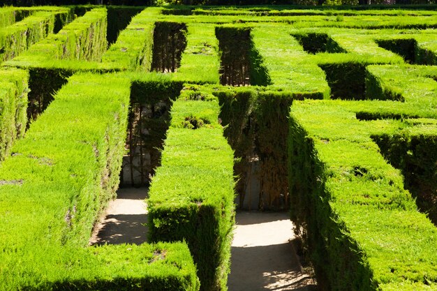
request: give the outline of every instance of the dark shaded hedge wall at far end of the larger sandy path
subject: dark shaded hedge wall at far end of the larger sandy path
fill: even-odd
[[[287,209],[287,153],[283,149],[288,138],[289,107],[295,96],[257,87],[214,88],[213,94],[220,101],[224,135],[235,151],[239,207],[245,208],[245,202],[251,200],[246,197],[246,188],[256,161],[260,191],[254,200],[259,199],[258,209]]]

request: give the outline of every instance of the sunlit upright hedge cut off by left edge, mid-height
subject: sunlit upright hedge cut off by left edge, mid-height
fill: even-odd
[[[26,130],[28,80],[24,70],[0,70],[0,160],[8,156],[13,142]]]

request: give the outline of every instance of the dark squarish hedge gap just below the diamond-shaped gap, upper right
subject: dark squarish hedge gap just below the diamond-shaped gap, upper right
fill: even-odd
[[[321,64],[331,87],[332,99],[366,99],[366,66],[357,63]]]

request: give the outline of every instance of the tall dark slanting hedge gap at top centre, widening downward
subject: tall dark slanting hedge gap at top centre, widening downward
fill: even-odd
[[[267,86],[271,83],[249,27],[216,27],[220,50],[220,83],[228,86]]]

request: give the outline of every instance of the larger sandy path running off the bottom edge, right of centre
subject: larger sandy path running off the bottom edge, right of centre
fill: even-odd
[[[237,212],[229,291],[313,291],[290,240],[286,213]]]

